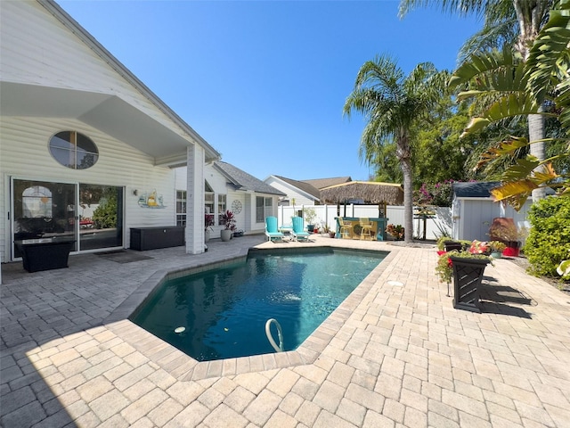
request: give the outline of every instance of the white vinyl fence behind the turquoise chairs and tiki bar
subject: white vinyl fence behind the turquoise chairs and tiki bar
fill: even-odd
[[[328,225],[331,230],[336,230],[338,216],[340,217],[365,217],[378,218],[378,205],[296,205],[277,207],[279,210],[277,222],[279,226],[289,226],[291,218],[294,216],[302,216],[305,208],[314,209],[316,213],[315,226],[321,228]],[[388,205],[387,206],[387,224],[403,226],[403,206]],[[306,222],[305,222],[306,224]],[[435,240],[439,236],[452,234],[452,209],[437,208],[435,218],[427,218],[425,221],[426,239]],[[424,235],[424,219],[414,218],[413,220],[413,236],[423,238]],[[389,236],[388,236],[389,239]]]

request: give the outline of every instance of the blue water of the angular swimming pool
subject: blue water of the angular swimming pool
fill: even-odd
[[[245,263],[167,281],[131,320],[199,361],[274,352],[269,318],[281,325],[284,350],[295,350],[385,256],[256,251]]]

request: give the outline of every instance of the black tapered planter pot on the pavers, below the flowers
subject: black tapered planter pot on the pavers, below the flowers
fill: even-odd
[[[481,312],[481,280],[489,260],[450,257],[453,266],[453,308]]]

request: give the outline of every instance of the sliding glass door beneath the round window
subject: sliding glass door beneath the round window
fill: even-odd
[[[12,242],[57,236],[75,241],[73,251],[122,247],[123,194],[118,186],[13,178]]]

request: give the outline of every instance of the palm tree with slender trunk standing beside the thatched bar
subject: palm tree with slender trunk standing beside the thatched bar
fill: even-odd
[[[432,63],[421,63],[408,76],[387,55],[365,62],[356,76],[344,113],[358,111],[367,120],[359,155],[373,164],[385,144],[395,143],[395,155],[403,173],[404,241],[413,239],[411,129],[435,105],[445,87],[447,73]]]

